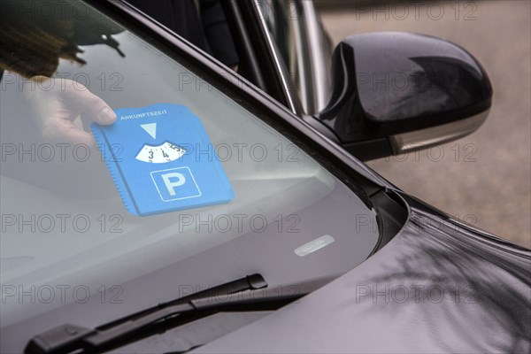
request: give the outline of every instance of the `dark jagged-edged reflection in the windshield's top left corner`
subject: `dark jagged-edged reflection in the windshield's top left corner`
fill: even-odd
[[[80,46],[106,44],[121,57],[119,42],[112,35],[121,27],[103,18],[89,16],[81,2],[50,2],[35,0],[2,1],[0,21],[0,70],[9,70],[24,77],[51,76],[57,71],[59,58],[80,65]]]

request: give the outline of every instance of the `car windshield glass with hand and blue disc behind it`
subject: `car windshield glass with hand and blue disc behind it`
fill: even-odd
[[[50,326],[94,326],[250,273],[272,288],[339,275],[377,244],[365,200],[135,28],[78,1],[1,4],[3,352]],[[133,179],[167,168],[142,162],[142,149],[146,157],[168,151],[179,127],[145,125],[143,135],[113,135],[113,143],[96,142],[90,125],[121,127],[139,111],[118,110],[157,104],[197,119],[208,142],[189,150],[190,135],[183,150],[219,164],[231,197],[146,216],[127,209],[127,198],[154,190]],[[138,170],[112,176],[115,159]],[[219,187],[180,181],[171,180],[177,193]],[[121,196],[120,183],[129,186]]]

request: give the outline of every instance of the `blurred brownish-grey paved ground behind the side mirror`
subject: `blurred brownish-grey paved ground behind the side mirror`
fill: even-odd
[[[380,12],[343,3],[319,9],[335,43],[369,31],[443,37],[472,52],[495,89],[489,119],[473,135],[369,165],[412,195],[531,248],[531,3],[452,1],[430,9],[400,2]]]

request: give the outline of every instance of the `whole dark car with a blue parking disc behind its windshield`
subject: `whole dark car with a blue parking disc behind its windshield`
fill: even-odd
[[[1,352],[531,350],[530,251],[361,162],[481,126],[492,88],[466,50],[373,33],[332,53],[310,1],[175,2],[187,31],[215,6],[218,55],[137,1],[0,4]],[[165,201],[179,128],[96,145],[89,125],[153,104],[198,119],[211,143],[184,158],[220,163],[232,200],[131,212]],[[154,185],[118,182],[142,151]]]

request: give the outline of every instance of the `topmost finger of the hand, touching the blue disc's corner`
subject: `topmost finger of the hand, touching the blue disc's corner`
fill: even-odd
[[[112,112],[112,108],[80,83],[67,87],[64,96],[66,104],[75,106],[99,124],[112,124],[116,120],[116,113]]]

